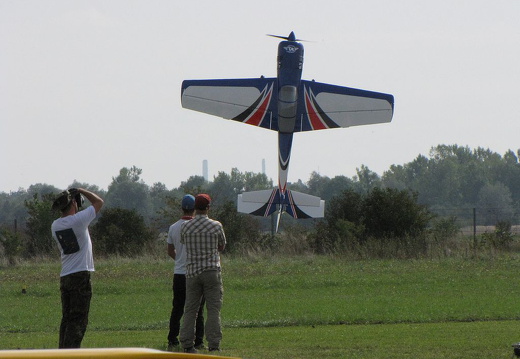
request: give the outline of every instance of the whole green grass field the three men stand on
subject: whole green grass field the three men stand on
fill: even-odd
[[[83,347],[166,348],[172,261],[98,260]],[[0,349],[56,348],[57,261],[0,268]],[[506,358],[520,259],[223,258],[225,356]],[[22,293],[22,288],[26,293]]]

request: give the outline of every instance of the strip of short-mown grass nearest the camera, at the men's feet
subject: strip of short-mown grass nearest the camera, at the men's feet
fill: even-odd
[[[517,321],[224,328],[220,356],[256,359],[510,358]],[[165,330],[87,331],[83,347],[166,349]],[[55,348],[56,333],[2,333],[2,346]],[[5,349],[5,348],[4,348]],[[202,351],[207,354],[207,352]]]

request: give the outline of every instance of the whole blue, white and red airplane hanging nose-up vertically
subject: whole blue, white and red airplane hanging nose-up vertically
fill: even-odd
[[[273,35],[271,35],[273,36]],[[294,32],[278,45],[278,74],[273,78],[185,80],[184,108],[278,132],[278,187],[238,195],[237,209],[267,217],[278,212],[294,218],[324,216],[325,201],[287,188],[293,134],[390,122],[394,97],[302,80],[303,46]]]

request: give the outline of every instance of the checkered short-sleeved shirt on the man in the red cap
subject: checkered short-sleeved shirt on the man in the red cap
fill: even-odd
[[[219,246],[226,245],[224,228],[219,221],[197,214],[182,224],[181,243],[186,247],[186,277],[206,270],[220,269]]]

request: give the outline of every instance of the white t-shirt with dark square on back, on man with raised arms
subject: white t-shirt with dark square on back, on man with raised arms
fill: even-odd
[[[61,252],[61,273],[66,276],[81,271],[94,271],[92,241],[88,226],[96,218],[96,210],[89,206],[78,213],[52,222],[52,237]]]

